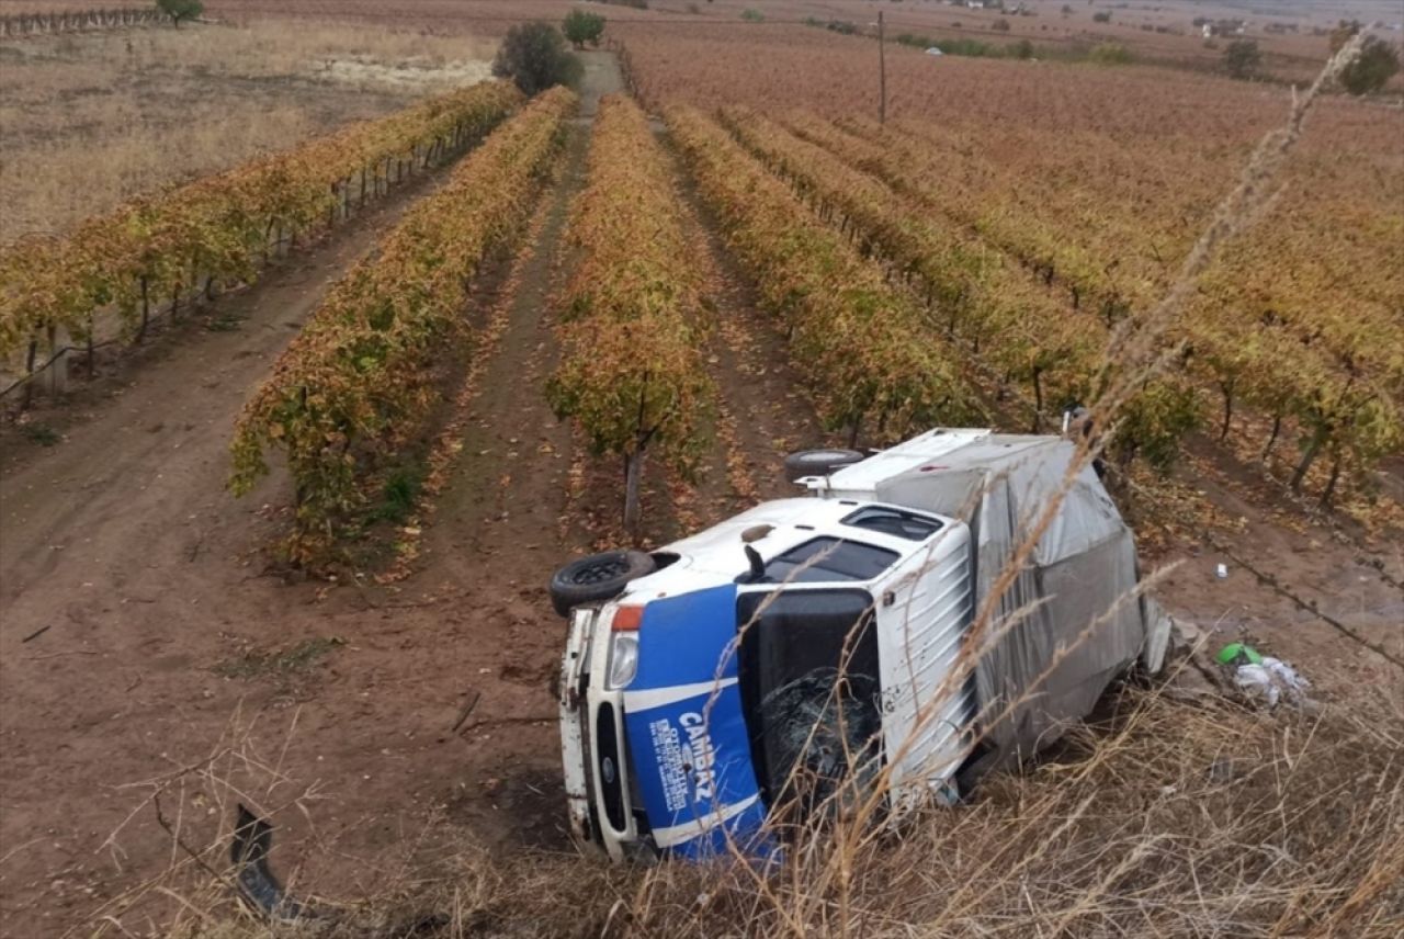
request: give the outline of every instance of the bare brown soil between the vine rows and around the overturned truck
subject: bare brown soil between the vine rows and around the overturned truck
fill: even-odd
[[[612,467],[578,451],[542,394],[592,102],[621,84],[607,53],[587,53],[587,66],[583,118],[526,247],[484,278],[470,312],[490,340],[455,403],[462,451],[407,580],[286,582],[260,550],[285,484],[244,501],[223,490],[240,406],[392,205],[223,300],[237,330],[188,337],[87,404],[59,445],[6,460],[0,932],[60,935],[117,911],[115,898],[180,859],[153,787],[133,783],[213,762],[232,766],[240,800],[275,814],[275,863],[298,890],[365,895],[465,835],[491,851],[571,849],[552,693],[563,625],[545,582],[601,538],[580,519],[607,518],[618,495]],[[654,474],[650,539],[785,494],[785,449],[826,442],[713,226],[705,213],[689,226],[713,265],[709,341],[724,407],[688,498]],[[1247,518],[1226,535],[1236,549],[1404,653],[1398,591],[1356,561],[1362,550],[1320,526],[1292,531],[1261,508],[1271,494],[1230,469],[1209,466],[1196,484]],[[1236,564],[1216,580],[1219,559],[1193,547],[1188,524],[1175,538],[1157,554],[1185,560],[1163,591],[1172,609],[1224,634],[1243,625],[1320,672],[1328,700],[1348,700],[1353,682],[1398,686],[1379,655]],[[1400,546],[1370,556],[1397,584]],[[174,789],[161,818],[204,845],[227,796]],[[124,925],[147,928],[150,911],[138,904]]]

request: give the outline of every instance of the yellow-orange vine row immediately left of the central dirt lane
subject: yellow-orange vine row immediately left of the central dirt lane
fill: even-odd
[[[281,448],[296,487],[289,557],[322,566],[354,531],[366,484],[424,427],[438,352],[462,335],[483,258],[531,212],[576,95],[553,88],[497,129],[379,250],[338,281],[244,407],[230,488],[247,493]]]

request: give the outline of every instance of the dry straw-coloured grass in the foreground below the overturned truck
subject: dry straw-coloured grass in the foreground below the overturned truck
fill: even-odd
[[[1125,689],[1109,710],[1026,775],[987,780],[973,804],[804,831],[764,876],[726,860],[643,870],[465,844],[291,928],[239,910],[226,883],[178,852],[146,887],[170,910],[150,935],[1400,935],[1398,700],[1273,717],[1213,695]],[[177,801],[167,797],[168,821]],[[201,856],[213,867],[226,855],[216,835]]]

